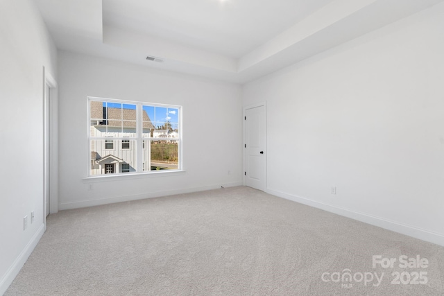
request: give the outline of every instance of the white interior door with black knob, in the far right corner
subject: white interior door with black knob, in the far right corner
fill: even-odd
[[[245,110],[245,184],[266,189],[266,110],[265,105]]]

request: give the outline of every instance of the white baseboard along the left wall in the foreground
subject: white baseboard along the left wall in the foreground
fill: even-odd
[[[17,275],[19,274],[19,271],[22,269],[26,260],[28,260],[29,256],[35,249],[35,246],[40,241],[40,238],[42,238],[43,234],[44,224],[40,225],[37,232],[35,232],[35,234],[31,238],[31,241],[28,242],[26,247],[22,250],[17,259],[15,259],[14,263],[12,263],[8,271],[6,271],[5,275],[0,280],[0,295],[3,295],[6,290],[8,290],[8,287],[15,279],[15,277],[17,277]]]

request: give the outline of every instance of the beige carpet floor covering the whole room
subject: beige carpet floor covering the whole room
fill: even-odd
[[[444,295],[444,247],[234,187],[51,214],[6,295]]]

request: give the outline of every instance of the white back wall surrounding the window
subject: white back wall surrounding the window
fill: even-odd
[[[65,51],[58,65],[60,209],[241,184],[241,87]],[[85,180],[87,96],[182,105],[186,172]]]

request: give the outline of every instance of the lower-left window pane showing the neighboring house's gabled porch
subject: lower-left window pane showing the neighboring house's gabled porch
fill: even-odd
[[[129,173],[137,170],[135,140],[91,140],[91,175]],[[120,145],[117,143],[120,142]],[[112,148],[110,148],[112,145]],[[122,148],[128,145],[128,148]],[[108,148],[107,148],[108,146]]]

